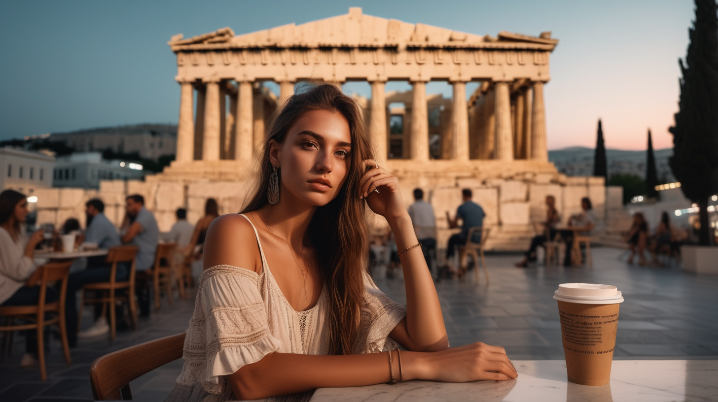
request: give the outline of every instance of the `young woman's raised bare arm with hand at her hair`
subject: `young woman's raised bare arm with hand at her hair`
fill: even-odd
[[[376,162],[372,160],[365,161],[365,166],[373,168],[361,179],[360,197],[365,197],[373,212],[386,218],[396,238],[398,251],[418,245],[414,225],[399,191],[398,179],[386,169],[376,167]],[[374,192],[376,188],[379,192]],[[399,258],[406,286],[406,318],[389,336],[406,349],[416,352],[447,349],[449,340],[439,296],[421,247],[411,248],[401,253]]]

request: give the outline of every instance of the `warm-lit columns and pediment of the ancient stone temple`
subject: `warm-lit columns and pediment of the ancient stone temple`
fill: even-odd
[[[550,32],[540,37],[500,32],[497,37],[482,37],[372,17],[356,7],[345,15],[248,34],[235,35],[223,28],[188,39],[175,35],[169,45],[177,55],[182,96],[177,160],[165,174],[201,171],[208,179],[218,179],[215,161],[236,161],[246,167],[264,135],[262,117],[269,111],[256,105],[257,84],[264,80],[279,83],[278,107],[294,93],[298,81],[368,81],[371,98],[365,112],[382,162],[389,159],[391,146],[385,84],[408,80],[413,86],[411,113],[406,113],[405,121],[410,132],[402,137],[402,159],[546,163],[542,88],[550,78],[549,53],[558,43],[550,36]],[[450,125],[439,133],[439,152],[429,146],[426,83],[431,80],[448,81],[454,93],[446,116]],[[481,106],[467,103],[470,81],[482,83],[480,93],[472,97],[482,98]],[[229,113],[224,112],[227,102]],[[532,123],[527,126],[526,121]],[[527,144],[531,144],[528,151]],[[221,165],[229,167],[231,162]],[[243,172],[246,169],[237,169],[237,177]]]

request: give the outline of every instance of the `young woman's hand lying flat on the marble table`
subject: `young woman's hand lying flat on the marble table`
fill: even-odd
[[[406,356],[406,357],[405,357]],[[475,342],[440,352],[401,353],[404,380],[464,383],[476,380],[510,380],[518,372],[503,347]]]

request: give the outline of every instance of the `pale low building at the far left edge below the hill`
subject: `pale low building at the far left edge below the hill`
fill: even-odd
[[[54,156],[10,146],[0,148],[0,190],[31,195],[37,188],[52,187],[54,167]]]

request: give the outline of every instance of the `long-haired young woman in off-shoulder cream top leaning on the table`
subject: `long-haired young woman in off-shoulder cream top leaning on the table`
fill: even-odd
[[[352,98],[332,85],[289,98],[260,163],[243,212],[208,230],[185,365],[168,401],[516,378],[503,347],[448,348],[398,179],[373,161]],[[368,209],[396,236],[406,309],[366,274]]]

